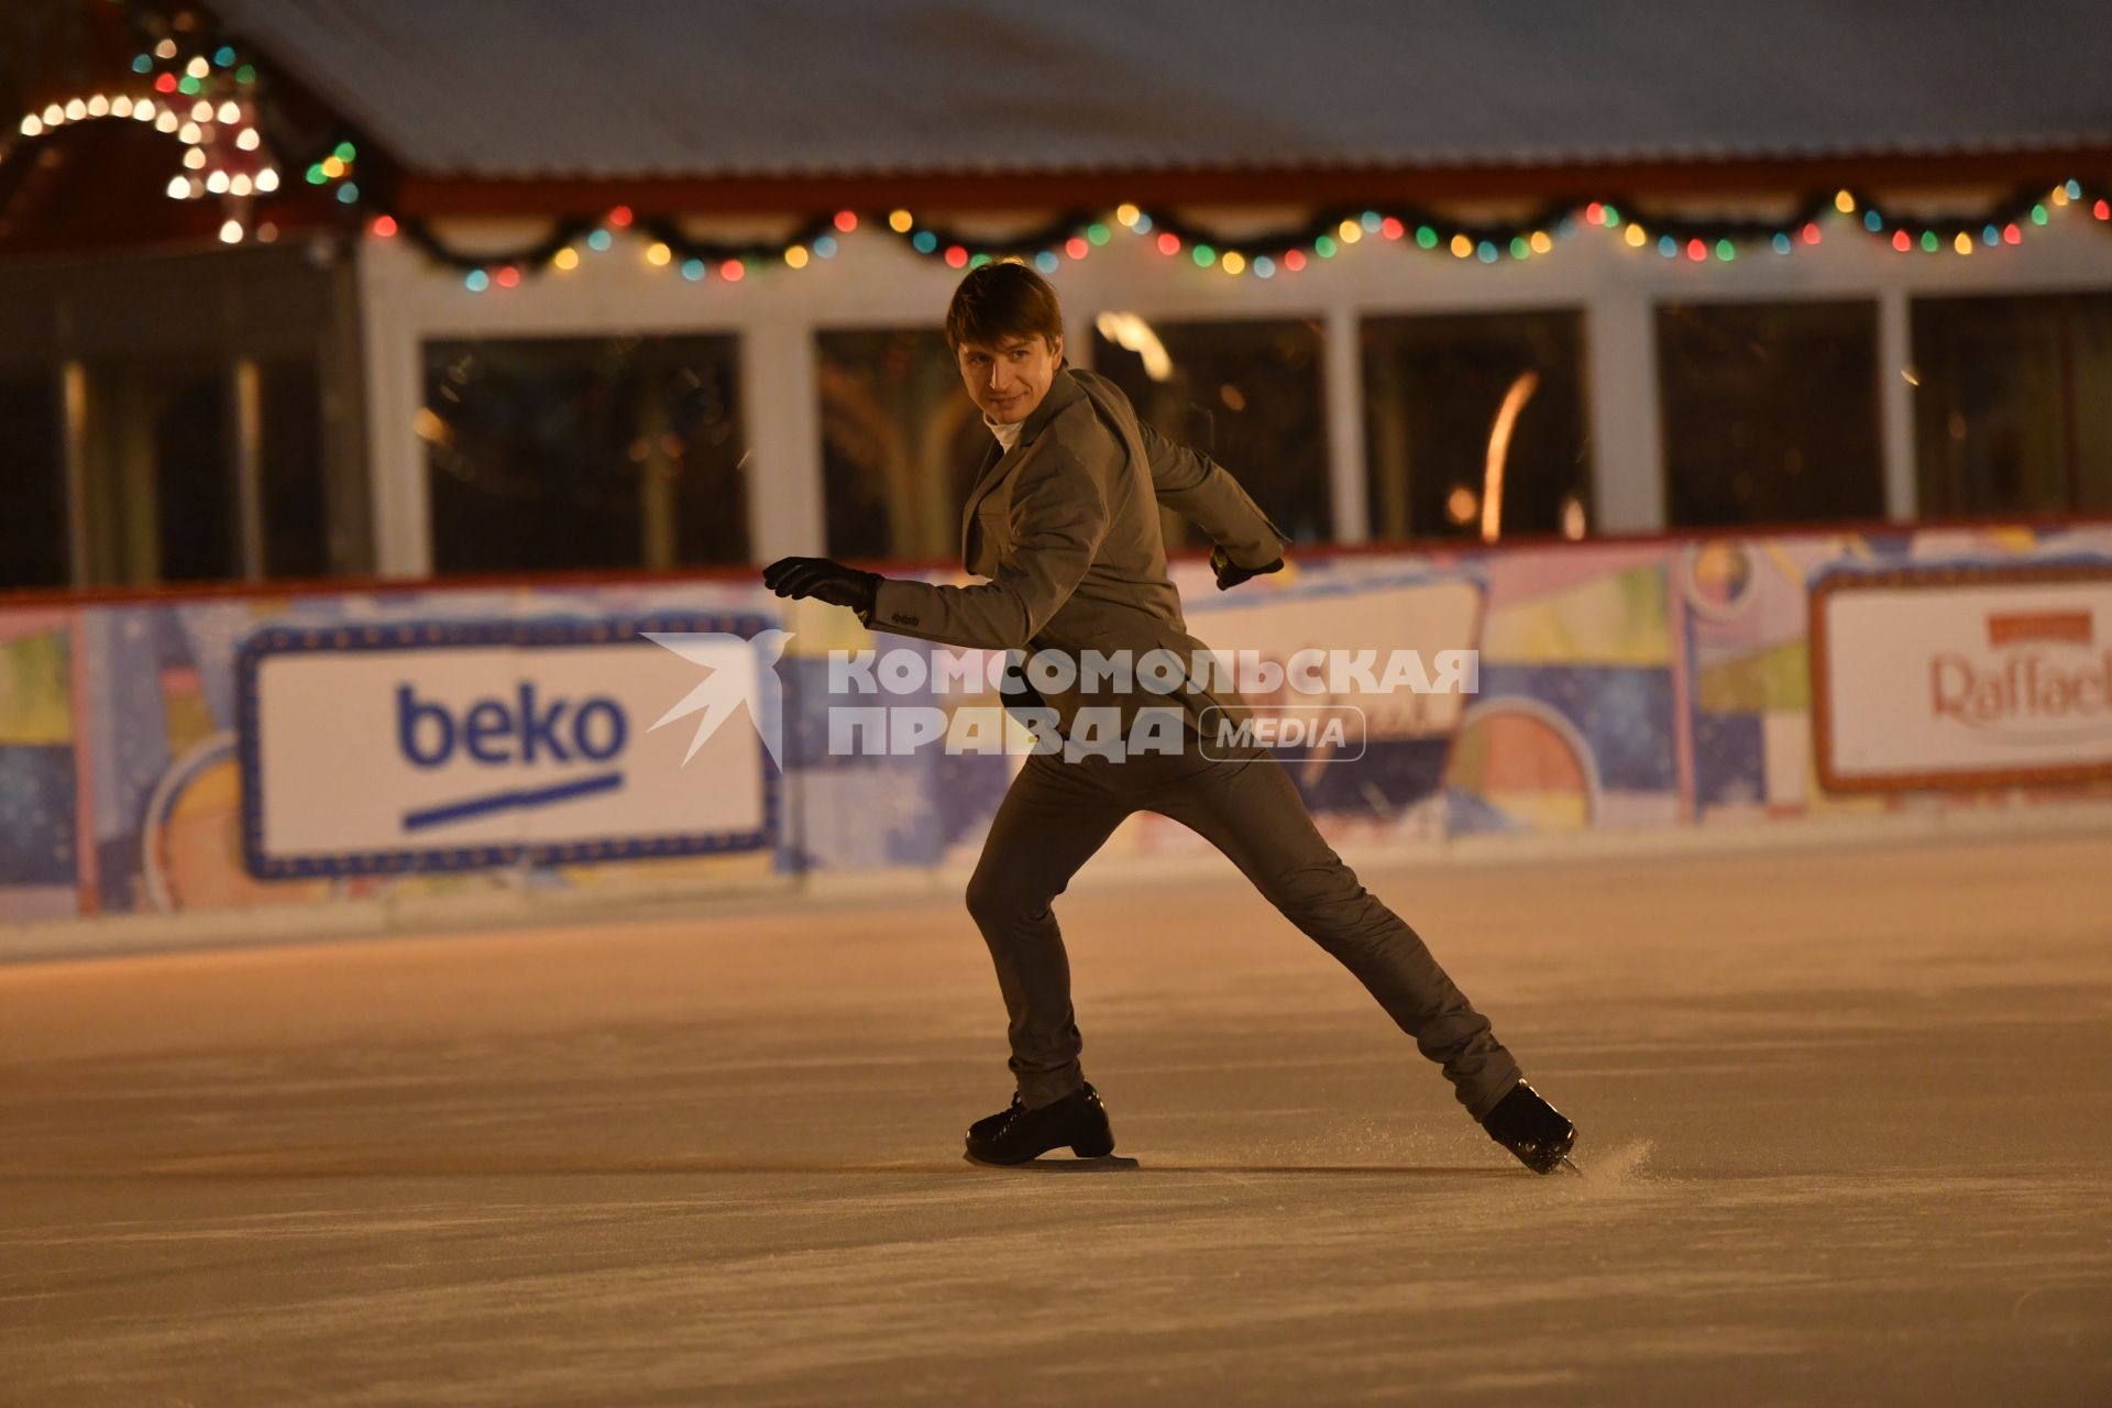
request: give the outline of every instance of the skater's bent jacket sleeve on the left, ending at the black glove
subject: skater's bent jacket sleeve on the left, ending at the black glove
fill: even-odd
[[[974,587],[881,578],[866,625],[946,646],[1024,650],[1056,614],[1107,536],[1107,494],[1062,445],[1020,467],[1012,486],[1014,547],[997,576]]]

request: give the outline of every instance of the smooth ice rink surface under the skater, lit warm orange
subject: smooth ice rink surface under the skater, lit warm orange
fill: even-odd
[[[2112,1404],[2112,838],[1058,903],[1134,1163],[961,1161],[957,897],[0,969],[4,1404]]]

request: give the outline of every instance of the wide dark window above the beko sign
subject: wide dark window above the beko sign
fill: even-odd
[[[429,342],[433,568],[748,559],[735,338]]]

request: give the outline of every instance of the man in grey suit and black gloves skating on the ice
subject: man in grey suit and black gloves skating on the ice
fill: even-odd
[[[1073,659],[1157,648],[1189,661],[1204,646],[1187,633],[1166,576],[1157,507],[1212,538],[1219,591],[1284,566],[1288,538],[1225,469],[1140,422],[1113,382],[1064,365],[1056,291],[1031,268],[969,270],[946,310],[946,344],[993,435],[961,513],[963,562],[991,581],[934,587],[784,557],[762,572],[779,597],[847,606],[876,631],[950,646]],[[1094,699],[1113,701],[1124,722],[1134,716],[1134,688],[1094,684],[1098,695],[1083,682],[1048,692],[1064,737],[1075,737],[1079,709]],[[1157,703],[1195,716],[1246,711],[1202,682]],[[1024,1163],[1060,1146],[1086,1159],[1115,1148],[1107,1108],[1079,1068],[1071,969],[1050,901],[1124,817],[1155,811],[1208,838],[1356,973],[1495,1142],[1527,1167],[1554,1172],[1573,1125],[1525,1083],[1415,931],[1358,884],[1282,764],[1257,745],[1206,749],[1210,735],[1191,726],[1176,751],[1029,754],[999,804],[967,910],[1005,996],[1016,1093],[1010,1108],[969,1125],[969,1157]]]

